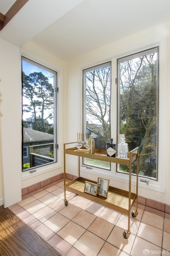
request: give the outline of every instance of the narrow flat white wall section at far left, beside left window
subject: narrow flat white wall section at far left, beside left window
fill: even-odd
[[[21,199],[21,73],[19,48],[0,40],[0,51],[2,172],[4,205],[9,206]]]

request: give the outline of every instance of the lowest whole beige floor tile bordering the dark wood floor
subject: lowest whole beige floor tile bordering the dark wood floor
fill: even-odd
[[[55,234],[48,243],[54,247],[61,255],[65,255],[66,252],[71,248],[71,245],[68,244],[65,240]],[[44,255],[45,256],[45,255]]]

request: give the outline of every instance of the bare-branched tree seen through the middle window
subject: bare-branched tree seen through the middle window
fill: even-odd
[[[86,127],[110,140],[110,66],[86,73]]]

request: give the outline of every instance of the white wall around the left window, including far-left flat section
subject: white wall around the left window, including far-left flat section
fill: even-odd
[[[22,173],[21,154],[21,52],[18,47],[0,40],[0,92],[1,100],[1,145],[0,203],[8,207],[21,200],[21,189],[63,172],[63,61],[28,43],[23,47],[27,56],[40,60],[58,71],[60,94],[58,96],[58,162],[50,167],[38,168],[36,173]],[[26,51],[27,50],[27,51]],[[2,61],[3,60],[3,61]],[[41,171],[40,171],[41,170]],[[2,189],[2,183],[4,190]],[[4,198],[1,199],[1,197]],[[3,200],[4,199],[4,200]],[[4,202],[3,202],[4,201]]]

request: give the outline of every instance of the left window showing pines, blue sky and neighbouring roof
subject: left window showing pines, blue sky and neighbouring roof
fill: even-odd
[[[57,162],[57,72],[22,57],[23,170]]]

